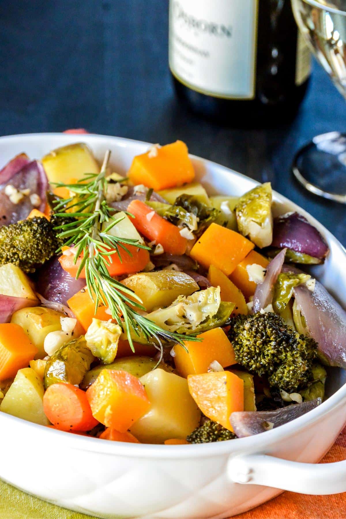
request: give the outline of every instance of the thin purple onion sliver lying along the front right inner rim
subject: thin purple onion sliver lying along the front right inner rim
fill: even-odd
[[[229,421],[238,438],[265,432],[305,415],[322,403],[321,398],[287,405],[275,411],[241,411],[232,413]]]

